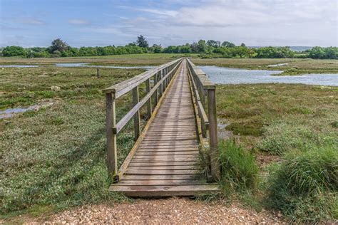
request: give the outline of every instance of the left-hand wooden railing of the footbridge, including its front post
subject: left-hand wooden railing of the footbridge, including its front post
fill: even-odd
[[[182,61],[183,58],[180,58],[170,63],[165,63],[104,90],[106,93],[107,163],[110,177],[114,180],[118,181],[118,177],[124,172],[123,169],[126,169],[123,165],[118,169],[118,149],[116,144],[118,133],[133,118],[135,140],[138,140],[141,133],[140,108],[146,105],[147,117],[151,117],[153,108],[158,104],[160,97],[168,87]],[[140,100],[138,88],[142,83],[145,83],[147,93]],[[153,86],[151,86],[151,83],[153,83]],[[120,121],[116,122],[116,100],[130,91],[133,93],[133,108]],[[153,98],[154,105],[151,98]],[[130,159],[127,157],[125,162],[128,160]],[[125,162],[123,164],[128,164],[128,162]]]

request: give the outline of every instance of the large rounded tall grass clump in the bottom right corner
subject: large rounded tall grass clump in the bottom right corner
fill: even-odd
[[[288,152],[268,178],[268,204],[294,222],[338,218],[338,147]]]

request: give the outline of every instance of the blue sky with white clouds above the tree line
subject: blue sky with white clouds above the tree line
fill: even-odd
[[[338,46],[338,0],[0,0],[0,46]]]

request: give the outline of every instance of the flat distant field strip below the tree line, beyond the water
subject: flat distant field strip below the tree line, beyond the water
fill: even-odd
[[[190,57],[200,66],[224,66],[260,70],[284,70],[282,75],[338,73],[338,60],[297,58],[198,58],[198,54],[147,53],[116,56],[84,56],[67,58],[0,58],[0,65],[52,65],[53,63],[91,63],[98,66],[157,66],[175,58]],[[287,63],[285,66],[270,65]]]

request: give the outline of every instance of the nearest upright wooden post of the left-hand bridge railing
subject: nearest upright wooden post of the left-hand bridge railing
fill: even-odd
[[[107,138],[107,165],[108,174],[114,179],[118,172],[118,157],[116,134],[113,128],[116,126],[116,106],[115,98],[111,93],[106,93],[106,138]]]

